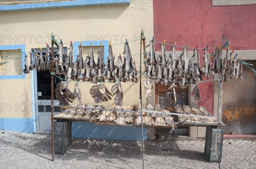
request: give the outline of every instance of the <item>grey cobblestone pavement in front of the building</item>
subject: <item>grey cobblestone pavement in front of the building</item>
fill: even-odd
[[[5,132],[5,133],[2,133]],[[0,130],[0,169],[8,168],[142,168],[140,141],[73,138],[72,148],[51,161],[51,136]],[[204,156],[201,141],[145,141],[145,169],[217,169]],[[256,167],[256,142],[224,140],[221,168]]]

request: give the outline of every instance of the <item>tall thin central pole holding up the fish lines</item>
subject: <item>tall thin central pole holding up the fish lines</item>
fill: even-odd
[[[140,115],[141,115],[141,131],[142,131],[142,168],[144,169],[144,135],[143,135],[143,115],[142,115],[142,90],[141,90],[141,52],[142,52],[142,34],[140,34]]]

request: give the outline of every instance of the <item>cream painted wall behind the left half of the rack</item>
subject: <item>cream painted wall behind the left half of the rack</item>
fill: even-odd
[[[17,11],[1,12],[0,30],[1,35],[7,35],[8,40],[1,40],[1,45],[15,45],[23,42],[26,37],[26,51],[31,48],[45,46],[45,42],[50,41],[50,34],[53,32],[56,38],[60,37],[63,42],[86,41],[86,40],[111,40],[112,44],[139,39],[142,29],[145,36],[153,37],[153,2],[131,1],[131,5],[113,5],[79,7],[79,8],[60,8],[58,10],[37,10],[37,11]],[[144,9],[143,9],[144,8]],[[88,39],[93,37],[93,39]],[[9,38],[17,37],[17,42]],[[109,38],[111,37],[111,39]],[[122,38],[121,38],[122,37]],[[6,38],[6,37],[5,37]],[[22,39],[23,38],[23,39]],[[43,40],[41,38],[44,38]],[[11,43],[9,42],[11,40]],[[22,43],[24,44],[24,42]],[[66,44],[69,48],[69,45]],[[140,42],[130,42],[132,55],[140,54]],[[108,49],[105,49],[108,50]],[[94,54],[97,54],[94,51]],[[124,45],[113,45],[113,53],[119,56],[124,51]],[[117,59],[117,57],[116,57]],[[139,69],[139,55],[133,56]],[[96,58],[95,58],[96,61]],[[144,81],[144,78],[142,79]],[[1,80],[1,102],[32,102],[31,78],[28,76],[24,80]],[[83,103],[93,103],[90,96],[90,87],[95,84],[80,83]],[[106,83],[108,90],[111,90],[113,83]],[[74,83],[70,82],[70,89],[73,90]],[[124,99],[126,104],[139,104],[139,84],[122,83]],[[113,99],[110,102],[113,103]],[[143,104],[146,103],[143,87]],[[32,111],[1,112],[1,117],[32,117]]]

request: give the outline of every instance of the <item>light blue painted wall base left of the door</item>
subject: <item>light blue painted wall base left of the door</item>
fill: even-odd
[[[34,118],[0,118],[0,129],[16,132],[35,132]]]

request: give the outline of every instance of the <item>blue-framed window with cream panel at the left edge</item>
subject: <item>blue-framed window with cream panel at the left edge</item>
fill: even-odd
[[[0,80],[26,79],[25,45],[0,45]]]

